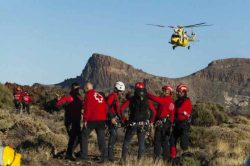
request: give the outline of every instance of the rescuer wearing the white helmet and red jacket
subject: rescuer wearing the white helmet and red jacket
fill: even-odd
[[[115,83],[114,91],[107,98],[108,104],[108,159],[114,161],[114,145],[117,140],[117,125],[121,123],[119,96],[125,91],[125,85],[121,81]]]

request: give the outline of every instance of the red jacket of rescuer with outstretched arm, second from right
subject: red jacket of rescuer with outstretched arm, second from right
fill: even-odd
[[[173,123],[175,105],[174,105],[174,101],[172,100],[172,98],[170,96],[158,97],[152,94],[148,94],[147,96],[149,99],[159,104],[155,119],[160,120],[167,116],[170,116],[170,121]]]

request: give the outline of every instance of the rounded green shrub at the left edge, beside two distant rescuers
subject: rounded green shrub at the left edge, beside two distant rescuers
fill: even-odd
[[[11,91],[0,83],[0,108],[13,108],[13,95]]]

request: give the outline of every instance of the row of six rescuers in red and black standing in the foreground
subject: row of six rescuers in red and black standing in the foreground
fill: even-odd
[[[58,99],[56,105],[65,108],[65,126],[69,135],[66,158],[75,160],[73,152],[80,143],[80,158],[88,160],[88,138],[93,130],[96,131],[100,162],[114,161],[114,146],[117,140],[118,126],[124,126],[125,136],[122,146],[120,163],[125,164],[132,136],[138,137],[138,160],[145,152],[145,136],[154,127],[154,161],[161,158],[171,161],[176,158],[176,144],[180,140],[183,152],[188,149],[190,116],[192,113],[191,100],[187,97],[188,88],[179,84],[176,88],[177,99],[174,102],[171,86],[162,87],[162,94],[155,96],[147,92],[143,82],[134,86],[134,94],[120,103],[121,94],[125,91],[123,82],[115,83],[112,93],[105,98],[88,82],[84,86],[85,97],[79,93],[80,85],[73,83],[69,95]],[[155,109],[154,103],[157,103]],[[128,107],[128,116],[125,110]],[[83,110],[83,111],[82,111]],[[81,127],[81,120],[83,126]],[[109,139],[106,146],[105,129],[108,127]]]

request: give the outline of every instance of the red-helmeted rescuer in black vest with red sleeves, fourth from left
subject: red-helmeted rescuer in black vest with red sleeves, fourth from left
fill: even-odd
[[[139,143],[137,158],[140,160],[143,157],[145,151],[146,130],[151,127],[156,113],[153,103],[147,98],[147,91],[142,82],[137,82],[135,84],[134,96],[125,101],[121,106],[121,114],[128,106],[129,119],[127,121],[124,116],[122,118],[123,121],[127,121],[127,130],[122,147],[121,164],[125,164],[128,154],[128,146],[134,133],[137,133]]]

